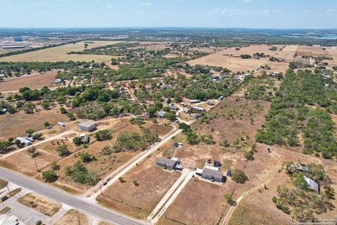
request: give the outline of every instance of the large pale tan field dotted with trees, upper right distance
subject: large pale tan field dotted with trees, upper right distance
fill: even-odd
[[[255,70],[256,68],[260,67],[260,65],[269,65],[271,67],[270,70],[284,72],[286,68],[288,68],[288,63],[273,63],[269,61],[268,58],[239,58],[239,56],[242,54],[253,56],[254,53],[264,53],[265,55],[274,56],[276,58],[285,58],[287,61],[290,61],[297,48],[297,46],[275,46],[277,46],[277,51],[270,51],[269,49],[271,46],[267,45],[251,45],[248,47],[242,47],[242,49],[239,51],[235,50],[235,48],[229,48],[210,54],[208,56],[190,60],[188,63],[190,65],[220,66],[223,68],[228,68],[233,72]],[[280,49],[282,50],[280,51]]]

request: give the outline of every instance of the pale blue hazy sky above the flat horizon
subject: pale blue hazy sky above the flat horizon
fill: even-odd
[[[337,28],[337,0],[0,0],[0,27]]]

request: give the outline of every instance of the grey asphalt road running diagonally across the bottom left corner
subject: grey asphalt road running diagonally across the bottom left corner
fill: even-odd
[[[37,181],[36,179],[32,179],[28,176],[1,167],[0,178],[10,181],[13,184],[17,184],[18,186],[28,188],[31,191],[34,191],[40,195],[44,195],[47,198],[58,201],[59,203],[65,203],[70,207],[74,207],[75,209],[81,210],[82,212],[90,214],[93,217],[97,217],[98,219],[112,221],[117,225],[145,224],[144,221],[131,219],[130,217],[126,217],[124,215],[118,214],[117,212],[107,210],[98,205],[87,203],[86,201],[81,200],[73,195],[59,191],[52,186],[48,186],[41,181]]]

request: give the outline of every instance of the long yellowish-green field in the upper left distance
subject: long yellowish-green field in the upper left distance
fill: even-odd
[[[97,46],[115,44],[118,41],[94,41],[93,44],[88,43],[88,49]],[[98,56],[98,55],[80,55],[80,54],[70,54],[70,51],[83,51],[84,41],[77,42],[76,44],[66,44],[62,46],[53,47],[50,49],[43,49],[39,51],[32,51],[29,53],[22,53],[15,56],[8,56],[0,58],[1,61],[5,62],[57,62],[57,61],[91,61],[103,62],[110,60],[113,56]]]

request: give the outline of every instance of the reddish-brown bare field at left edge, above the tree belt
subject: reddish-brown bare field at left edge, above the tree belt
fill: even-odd
[[[56,71],[46,72],[39,75],[19,77],[0,82],[0,91],[18,91],[18,89],[27,86],[30,89],[40,89],[44,86],[52,86]]]

